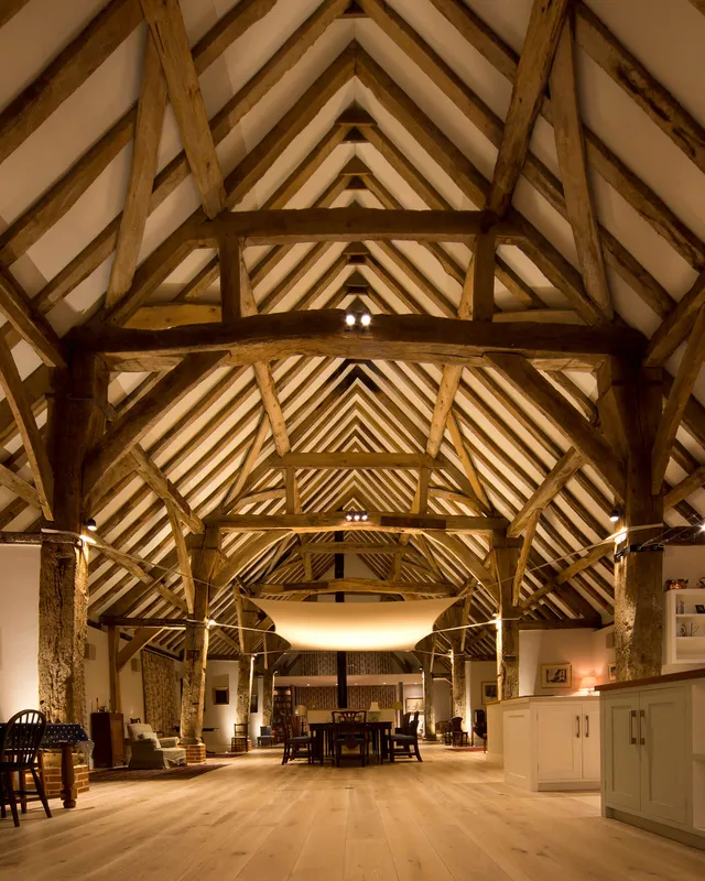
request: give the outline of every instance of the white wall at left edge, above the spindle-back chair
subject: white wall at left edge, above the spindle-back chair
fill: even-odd
[[[0,545],[0,719],[39,708],[40,548]]]

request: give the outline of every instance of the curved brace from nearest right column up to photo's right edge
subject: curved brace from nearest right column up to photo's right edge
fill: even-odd
[[[683,360],[679,367],[677,376],[673,381],[671,393],[666,401],[659,431],[657,433],[651,460],[651,491],[654,496],[661,492],[665,470],[671,458],[675,433],[681,425],[685,406],[695,385],[703,360],[705,359],[705,306],[701,307],[693,330],[687,340]]]

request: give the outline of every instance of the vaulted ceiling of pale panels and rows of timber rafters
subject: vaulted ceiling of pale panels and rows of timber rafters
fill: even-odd
[[[702,2],[9,0],[0,24],[0,309],[11,350],[0,365],[0,529],[42,516],[26,422],[43,432],[59,338],[80,326],[218,323],[220,274],[232,283],[234,265],[239,273],[239,244],[238,262],[221,269],[226,251],[194,243],[197,225],[223,209],[348,206],[488,209],[522,236],[253,244],[238,282],[251,285],[248,314],[477,319],[484,308],[528,335],[546,323],[566,334],[629,326],[650,340],[647,363],[666,369],[664,401],[684,383],[692,392],[670,401],[665,529],[699,523]],[[489,291],[484,303],[474,285]],[[183,617],[188,534],[214,512],[360,508],[507,518],[510,534],[528,536],[517,585],[527,618],[609,620],[605,539],[619,488],[608,466],[619,449],[598,414],[599,365],[571,355],[522,372],[517,357],[203,360],[128,455],[95,460],[90,617]],[[111,425],[176,363],[113,358]],[[394,456],[375,470],[279,461],[323,452]],[[402,454],[411,458],[399,467]],[[247,595],[319,578],[330,540],[228,533],[213,617],[236,621],[234,584]],[[469,620],[494,616],[487,536],[347,540],[369,545],[359,555],[377,577],[417,585],[413,596],[441,583],[471,596]],[[305,551],[317,543],[328,546]],[[156,641],[177,650],[182,639],[165,630]],[[480,629],[465,649],[491,645]],[[237,651],[235,631],[216,630],[212,648]]]

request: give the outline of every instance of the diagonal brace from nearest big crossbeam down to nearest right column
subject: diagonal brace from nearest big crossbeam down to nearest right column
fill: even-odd
[[[603,475],[610,489],[622,499],[623,464],[599,432],[521,356],[502,354],[486,357],[520,394],[525,394],[560,431],[566,434],[575,447]]]

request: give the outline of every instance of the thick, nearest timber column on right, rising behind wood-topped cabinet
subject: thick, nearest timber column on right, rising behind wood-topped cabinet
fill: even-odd
[[[640,370],[616,359],[610,369],[615,412],[627,449],[623,525],[630,529],[659,524],[653,530],[628,533],[626,541],[616,546],[617,678],[640,679],[660,675],[662,663],[663,552],[653,540],[663,532],[663,494],[652,494],[651,463],[661,418],[663,378],[659,368]]]

